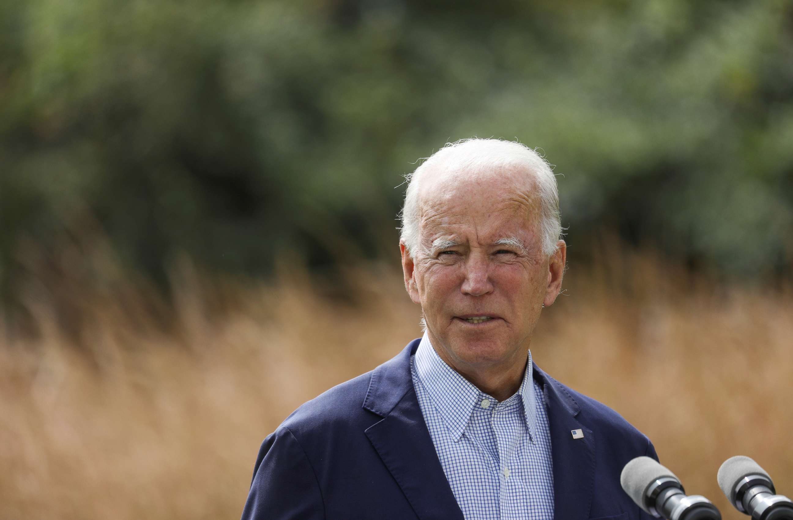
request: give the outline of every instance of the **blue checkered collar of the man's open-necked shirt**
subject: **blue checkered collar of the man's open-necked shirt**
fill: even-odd
[[[424,332],[419,347],[416,350],[416,374],[419,381],[427,388],[427,393],[435,408],[439,411],[446,426],[449,428],[454,441],[462,437],[465,427],[468,426],[473,407],[486,396],[493,400],[469,380],[462,377],[443,361],[430,342],[427,332]],[[528,355],[526,372],[518,388],[523,400],[523,416],[531,438],[534,439],[534,381],[531,377],[531,352]]]

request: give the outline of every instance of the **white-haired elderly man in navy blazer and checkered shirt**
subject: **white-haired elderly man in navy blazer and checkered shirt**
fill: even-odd
[[[412,174],[402,220],[423,338],[264,440],[243,519],[648,518],[619,474],[656,457],[649,439],[531,361],[565,271],[550,166],[519,143],[449,144]]]

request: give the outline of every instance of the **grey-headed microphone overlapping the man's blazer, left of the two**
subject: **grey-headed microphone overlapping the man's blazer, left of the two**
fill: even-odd
[[[674,473],[650,457],[636,457],[623,468],[619,484],[638,507],[666,520],[722,520],[702,495],[686,495]]]

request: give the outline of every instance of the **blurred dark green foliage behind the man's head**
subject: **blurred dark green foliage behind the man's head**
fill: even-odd
[[[790,269],[793,6],[0,0],[0,276],[86,219],[154,274],[397,254],[400,175],[469,136],[542,147],[574,245]]]

